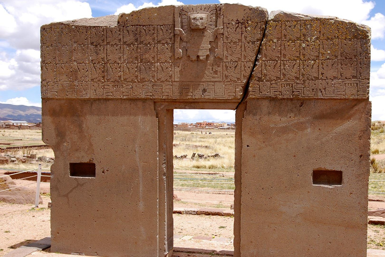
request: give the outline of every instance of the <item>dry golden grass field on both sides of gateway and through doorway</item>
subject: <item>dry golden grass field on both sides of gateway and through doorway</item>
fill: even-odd
[[[385,121],[373,121],[371,124],[370,152],[372,154],[372,173],[385,173],[385,159],[377,158],[378,154],[385,154]],[[212,134],[209,134],[209,133]],[[44,145],[42,131],[35,130],[0,130],[0,149],[11,146]],[[194,132],[174,132],[173,156],[186,155],[184,159],[173,160],[175,172],[182,170],[234,172],[235,131],[234,130],[198,130]],[[3,153],[5,151],[3,150]],[[54,157],[51,149],[11,149],[11,155],[29,155]],[[196,158],[191,155],[196,153]],[[221,158],[200,159],[198,154],[205,157],[219,154]],[[3,169],[28,170],[36,164],[9,164]],[[50,165],[45,165],[45,168]]]

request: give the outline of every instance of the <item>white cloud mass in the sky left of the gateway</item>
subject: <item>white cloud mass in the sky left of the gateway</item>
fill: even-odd
[[[78,0],[4,0],[0,2],[0,90],[23,90],[40,85],[40,27],[90,18],[88,3]]]

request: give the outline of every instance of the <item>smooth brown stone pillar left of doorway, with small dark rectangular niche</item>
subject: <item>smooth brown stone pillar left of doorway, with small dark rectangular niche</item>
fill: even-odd
[[[153,102],[47,99],[43,122],[43,140],[56,157],[51,168],[52,251],[158,256]]]

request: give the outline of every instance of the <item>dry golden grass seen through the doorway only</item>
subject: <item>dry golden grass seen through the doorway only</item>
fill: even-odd
[[[206,134],[207,132],[207,134]],[[212,134],[209,134],[211,132]],[[187,155],[174,159],[175,170],[211,170],[234,172],[235,131],[177,131],[174,135],[173,155]],[[205,156],[219,154],[223,158],[190,159],[193,153]]]

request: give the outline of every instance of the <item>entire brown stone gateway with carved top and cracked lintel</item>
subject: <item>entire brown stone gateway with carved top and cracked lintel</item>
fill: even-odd
[[[234,256],[366,256],[370,29],[218,4],[41,28],[52,251],[171,256],[173,109],[236,109]]]

